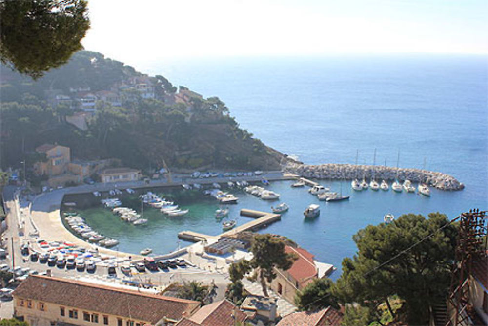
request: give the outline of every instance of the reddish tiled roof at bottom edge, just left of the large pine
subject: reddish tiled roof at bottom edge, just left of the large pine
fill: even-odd
[[[316,312],[292,312],[291,314],[283,317],[282,320],[276,324],[276,326],[339,326],[341,325],[341,321],[341,313],[332,307],[327,307]]]

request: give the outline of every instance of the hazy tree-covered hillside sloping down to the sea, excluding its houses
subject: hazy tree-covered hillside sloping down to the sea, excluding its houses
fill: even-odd
[[[1,166],[19,166],[40,159],[33,154],[43,143],[69,146],[80,159],[120,158],[126,166],[276,169],[283,155],[239,128],[217,97],[190,94],[185,103],[170,103],[177,88],[163,76],[150,77],[155,98],[145,99],[130,87],[117,90],[122,106],[97,101],[87,129],[67,122],[80,104],[53,102],[55,94],[72,95],[73,88],[90,93],[114,89],[142,77],[130,66],[81,51],[68,64],[33,81],[1,67]],[[180,87],[180,92],[188,90]],[[72,96],[72,98],[74,98]],[[29,154],[30,153],[30,154]]]

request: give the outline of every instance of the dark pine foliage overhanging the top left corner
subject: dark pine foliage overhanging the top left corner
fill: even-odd
[[[84,0],[0,1],[0,60],[34,79],[81,50],[90,27]]]

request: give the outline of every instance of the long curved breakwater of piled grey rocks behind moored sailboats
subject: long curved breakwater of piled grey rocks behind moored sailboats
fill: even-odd
[[[344,179],[354,178],[369,179],[374,177],[377,180],[410,180],[413,182],[423,181],[427,185],[440,190],[461,190],[464,184],[455,177],[441,172],[433,172],[419,169],[405,169],[386,166],[354,165],[354,164],[321,164],[306,165],[288,163],[285,172],[301,175],[305,178],[316,179]]]

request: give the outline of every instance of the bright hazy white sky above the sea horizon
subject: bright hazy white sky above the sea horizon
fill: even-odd
[[[487,0],[89,0],[86,50],[160,58],[488,53]]]

